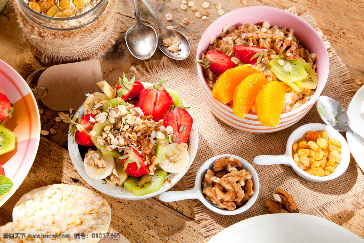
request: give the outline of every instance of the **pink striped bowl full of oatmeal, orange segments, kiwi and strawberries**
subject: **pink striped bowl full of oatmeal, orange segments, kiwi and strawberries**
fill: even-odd
[[[250,23],[250,25],[248,25],[248,23]],[[264,37],[260,37],[261,39],[255,39],[252,35],[252,38],[245,39],[248,37],[248,33],[246,33],[246,37],[238,37],[242,38],[241,41],[238,41],[236,36],[232,36],[233,40],[228,40],[231,42],[230,45],[226,44],[225,47],[215,48],[214,43],[216,42],[216,39],[214,36],[217,37],[217,40],[222,39],[226,36],[229,36],[230,30],[233,33],[234,29],[232,29],[232,27],[235,27],[235,29],[238,30],[238,28],[243,25],[246,25],[245,27],[249,28],[249,34],[254,34],[254,31],[258,30],[258,28],[259,30],[262,28],[267,28],[269,30],[269,28],[275,28],[274,26],[277,26],[277,28],[274,30],[276,30],[278,34],[281,31],[286,33],[282,34],[281,43],[277,43],[278,46],[275,45],[277,38],[272,37],[270,40],[267,40]],[[264,25],[268,25],[269,27],[265,27]],[[250,30],[250,28],[252,28],[252,30]],[[289,31],[290,29],[292,29],[293,32]],[[273,29],[270,31],[272,30]],[[222,34],[222,32],[225,32],[225,34]],[[222,38],[220,37],[221,34],[223,36]],[[268,44],[270,46],[265,46],[263,40],[269,42]],[[210,44],[210,42],[213,44]],[[279,42],[279,40],[277,42]],[[248,47],[248,50],[240,50],[240,52],[250,53],[251,56],[248,55],[244,60],[243,58],[240,58],[238,54],[235,54],[237,53],[237,48],[246,48],[245,45]],[[211,46],[214,47],[211,48]],[[307,58],[301,58],[301,55],[297,58],[297,56],[292,55],[295,46],[296,49],[302,48],[302,51],[307,53]],[[277,55],[275,56],[269,50],[277,50],[276,48],[279,47],[282,47],[282,51],[280,50],[281,52],[276,52],[275,54]],[[230,50],[228,50],[229,48]],[[254,48],[259,50],[254,50]],[[206,68],[202,67],[199,63],[197,64],[199,86],[202,92],[202,97],[205,99],[210,110],[219,119],[239,130],[253,133],[270,133],[288,128],[289,126],[298,122],[310,110],[327,82],[329,72],[329,58],[327,49],[320,35],[300,17],[281,9],[272,7],[247,7],[236,9],[227,13],[226,15],[223,15],[222,17],[219,17],[219,19],[215,20],[214,23],[212,23],[203,34],[197,48],[197,61],[206,58],[203,56],[203,54],[208,56],[207,52],[216,49],[219,50],[219,52],[223,52],[223,55],[227,54],[226,56],[231,58],[229,61],[232,63],[230,66],[229,63],[223,63],[223,65],[218,67],[222,68],[222,70],[219,70],[219,72],[214,74],[215,76],[212,75],[212,77],[211,75],[207,75],[206,72],[207,69],[211,69],[211,66]],[[296,51],[298,53],[298,50]],[[288,56],[290,56],[290,58],[288,58]],[[288,60],[292,59],[293,56],[297,59]],[[214,58],[216,60],[221,58],[221,56],[213,56],[211,59]],[[276,60],[275,64],[273,63],[274,60]],[[209,65],[209,61],[210,60],[207,60],[207,63],[204,63],[205,66]],[[225,67],[226,65],[229,67]],[[302,71],[299,70],[296,72],[296,65],[300,66]],[[305,65],[308,65],[309,67],[306,68]],[[288,74],[288,77],[282,77],[282,72],[286,71],[284,67],[287,66],[289,66],[291,68],[290,70],[293,70],[295,74],[298,73],[297,76],[299,77],[293,77],[290,74]],[[215,89],[215,85],[218,83],[217,81],[222,75],[225,75],[225,73],[229,72],[230,70],[234,70],[235,68],[245,69],[242,70],[242,72],[245,72],[243,75],[244,77],[242,77],[241,80],[238,80],[238,83],[233,86],[232,91],[228,90],[231,96],[230,99],[227,98],[223,100],[226,98],[226,96],[229,96],[226,95],[228,92],[214,92],[216,90],[213,91],[211,89],[212,87]],[[275,72],[277,69],[280,70]],[[313,72],[311,70],[313,70]],[[212,72],[212,70],[210,71]],[[304,74],[302,74],[302,72],[304,72]],[[270,77],[268,73],[270,74]],[[260,77],[261,74],[263,75],[262,78]],[[235,74],[233,73],[232,75]],[[254,79],[251,78],[250,75],[252,75],[252,77],[254,76]],[[227,77],[227,80],[229,80],[229,76]],[[241,83],[243,83],[242,81],[245,81],[245,78],[249,77],[251,79],[251,83],[255,82],[258,83],[257,86],[260,85],[258,91],[248,90],[247,87],[254,86],[250,85],[250,83],[246,86],[241,85]],[[287,79],[291,78],[292,80],[287,81]],[[259,81],[262,79],[264,81],[259,84]],[[287,82],[283,81],[283,79]],[[308,84],[307,81],[312,81],[312,79],[314,79],[312,82],[313,86],[305,86]],[[222,85],[219,87],[229,87],[228,82],[220,82],[220,84],[221,83]],[[302,87],[302,89],[297,87],[298,84]],[[239,99],[234,99],[232,101],[232,97],[236,96],[235,88],[239,86],[241,86],[239,89],[240,93],[244,93],[244,91],[248,90],[248,92],[246,92],[248,93],[248,96],[254,96],[254,92],[256,92],[255,96],[252,98],[252,103],[249,104],[249,107],[244,108],[244,97],[240,99],[241,97],[238,96]],[[267,97],[267,95],[264,95],[264,92],[260,92],[260,90],[268,90],[265,94],[270,94],[270,99],[262,99],[262,97]],[[279,94],[278,91],[272,92],[275,90],[282,90],[282,94]],[[263,94],[257,96],[258,92]],[[298,96],[299,98],[297,99]],[[263,106],[265,109],[257,109],[258,98],[256,100],[256,97],[261,97],[261,106]],[[296,99],[296,103],[291,102],[291,107],[289,107],[289,105],[286,105],[287,99],[292,99],[292,101]],[[238,100],[241,102],[235,102]],[[254,107],[254,105],[256,109],[253,110],[250,108],[250,106]],[[235,109],[240,110],[234,112],[234,107]],[[264,120],[264,116],[266,116],[270,110],[273,110],[276,107],[278,107],[278,109],[275,112],[278,112],[278,116],[276,115],[274,119],[268,117],[264,122],[262,122],[262,120]],[[263,112],[260,114],[260,116],[258,116],[259,110]],[[282,113],[280,113],[280,111],[282,111]]]

